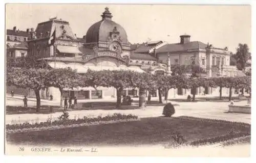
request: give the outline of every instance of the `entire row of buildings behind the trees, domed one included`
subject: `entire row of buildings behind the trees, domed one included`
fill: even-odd
[[[151,41],[143,44],[131,44],[124,28],[112,20],[108,8],[101,20],[93,23],[82,38],[73,33],[66,20],[51,18],[37,24],[36,29],[17,32],[16,28],[7,31],[7,55],[11,57],[35,56],[44,60],[52,68],[76,69],[86,73],[89,69],[132,70],[153,74],[169,75],[172,65],[195,65],[205,70],[207,77],[236,76],[236,66],[230,66],[230,52],[227,47],[217,48],[200,41],[190,41],[189,35],[180,36],[180,42],[168,44],[164,41]],[[16,31],[16,32],[15,32]],[[49,39],[55,32],[54,44]],[[14,35],[17,33],[17,35]],[[9,40],[9,42],[8,42]],[[14,44],[12,43],[14,42]],[[15,44],[19,42],[19,44]],[[15,51],[17,50],[17,51]],[[18,52],[19,50],[19,52]],[[11,53],[15,55],[10,55]],[[223,94],[228,93],[222,89]],[[34,96],[33,92],[27,95]],[[126,89],[123,96],[138,96],[137,89]],[[79,88],[66,89],[63,96],[57,88],[41,90],[41,98],[58,101],[60,98],[78,99],[116,98],[115,88]],[[197,94],[219,94],[218,89],[198,88]],[[191,94],[191,90],[172,89],[168,98]],[[165,93],[163,92],[164,96]],[[153,96],[158,96],[156,91]]]

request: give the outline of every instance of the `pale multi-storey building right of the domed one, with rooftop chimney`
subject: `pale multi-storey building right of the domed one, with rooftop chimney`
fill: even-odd
[[[179,43],[168,44],[156,41],[154,44],[135,44],[134,52],[148,53],[156,57],[161,63],[170,65],[192,65],[204,70],[206,77],[237,76],[236,66],[230,66],[230,51],[227,47],[218,48],[200,41],[190,41],[189,35],[181,35]],[[202,74],[201,74],[202,75]],[[172,89],[168,96],[187,95],[191,90]],[[197,94],[219,94],[219,89],[198,88]],[[228,89],[223,89],[223,94],[228,94]]]

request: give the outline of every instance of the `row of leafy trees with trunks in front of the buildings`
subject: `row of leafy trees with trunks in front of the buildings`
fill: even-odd
[[[162,103],[162,90],[168,92],[172,88],[192,89],[193,100],[195,100],[196,89],[198,87],[220,87],[229,88],[231,100],[232,88],[250,89],[251,78],[246,77],[217,77],[217,78],[202,78],[202,77],[185,77],[182,75],[153,75],[149,73],[139,73],[134,71],[92,71],[88,70],[85,74],[78,74],[70,68],[62,69],[46,69],[46,68],[19,68],[9,67],[7,69],[7,85],[16,86],[18,88],[30,88],[34,90],[37,99],[37,111],[40,108],[41,89],[49,87],[58,88],[61,97],[65,88],[74,89],[79,87],[93,87],[97,90],[98,87],[114,87],[117,91],[116,107],[121,105],[122,91],[126,88],[139,88],[139,106],[143,107],[145,102],[146,90],[150,93],[158,90],[159,102]],[[220,98],[221,98],[220,91]],[[62,98],[60,98],[60,106],[62,107]]]

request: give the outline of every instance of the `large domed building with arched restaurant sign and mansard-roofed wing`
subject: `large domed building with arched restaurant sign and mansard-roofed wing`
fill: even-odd
[[[90,26],[86,36],[78,38],[70,28],[68,21],[52,18],[49,21],[38,23],[36,30],[31,29],[28,40],[28,55],[37,56],[44,60],[52,68],[70,67],[78,73],[86,73],[91,70],[132,70],[145,72],[141,64],[133,62],[144,60],[147,63],[155,63],[156,58],[135,54],[131,49],[124,28],[112,21],[112,14],[108,8],[101,15],[102,19]],[[51,37],[55,41],[51,43]],[[50,41],[50,42],[49,42]],[[133,58],[131,58],[133,56]],[[42,99],[59,101],[60,92],[56,88],[41,91]],[[123,95],[138,96],[137,89],[127,89]],[[33,95],[28,95],[33,96]],[[63,96],[77,97],[78,99],[116,98],[115,88],[79,88],[77,90],[65,90]]]

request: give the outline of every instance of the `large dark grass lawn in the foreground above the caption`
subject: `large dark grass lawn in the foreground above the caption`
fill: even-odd
[[[172,135],[180,132],[186,141],[213,138],[230,131],[250,133],[247,127],[226,122],[201,122],[198,119],[142,118],[141,121],[121,122],[97,126],[83,126],[65,129],[8,133],[10,144],[24,145],[166,145],[173,141]]]

